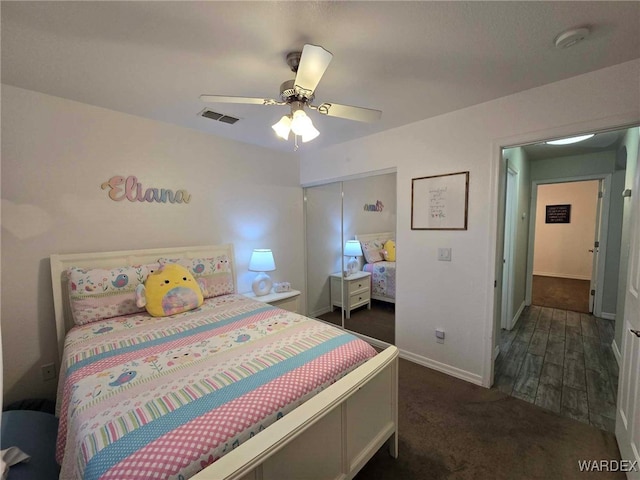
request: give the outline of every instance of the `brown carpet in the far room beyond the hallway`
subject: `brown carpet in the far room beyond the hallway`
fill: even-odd
[[[589,313],[589,280],[533,276],[531,303]]]

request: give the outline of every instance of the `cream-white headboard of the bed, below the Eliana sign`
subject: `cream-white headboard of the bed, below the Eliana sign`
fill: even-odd
[[[199,247],[154,248],[149,250],[122,250],[116,252],[53,254],[51,260],[51,282],[53,284],[53,308],[58,337],[58,358],[62,358],[64,337],[74,326],[69,305],[67,269],[114,268],[125,265],[153,263],[159,258],[208,258],[227,255],[231,260],[234,291],[237,292],[237,277],[233,245],[205,245]]]

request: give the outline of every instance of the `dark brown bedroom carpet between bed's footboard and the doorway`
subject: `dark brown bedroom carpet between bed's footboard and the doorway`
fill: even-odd
[[[357,480],[625,478],[578,466],[619,460],[612,433],[402,359],[398,416],[398,459],[383,447]]]

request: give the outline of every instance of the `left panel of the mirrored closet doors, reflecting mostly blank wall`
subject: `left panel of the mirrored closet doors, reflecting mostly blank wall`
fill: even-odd
[[[304,189],[307,243],[307,316],[332,314],[331,274],[342,266],[342,185]],[[335,298],[334,298],[335,300]],[[331,323],[343,327],[339,309]]]

